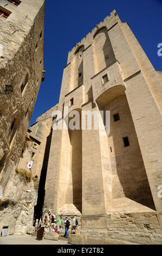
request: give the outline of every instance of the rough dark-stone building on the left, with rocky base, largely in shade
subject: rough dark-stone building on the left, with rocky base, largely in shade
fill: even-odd
[[[43,38],[44,0],[0,0],[0,233],[8,235],[33,226],[34,184],[18,164],[43,80]]]

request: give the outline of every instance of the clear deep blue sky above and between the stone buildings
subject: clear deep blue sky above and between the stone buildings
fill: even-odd
[[[162,42],[162,0],[45,0],[44,74],[30,125],[59,102],[68,52],[96,24],[116,10],[128,22],[155,70],[162,70],[157,45]]]

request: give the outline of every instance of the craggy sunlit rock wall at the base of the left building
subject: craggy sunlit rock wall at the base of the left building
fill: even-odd
[[[0,235],[3,227],[8,227],[8,235],[31,234],[36,198],[33,181],[25,182],[15,174],[9,189],[6,197],[0,198]]]

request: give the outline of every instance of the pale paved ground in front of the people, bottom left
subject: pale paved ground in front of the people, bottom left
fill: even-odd
[[[68,239],[60,237],[58,241],[43,239],[36,240],[32,235],[9,235],[0,237],[0,245],[70,245]]]

